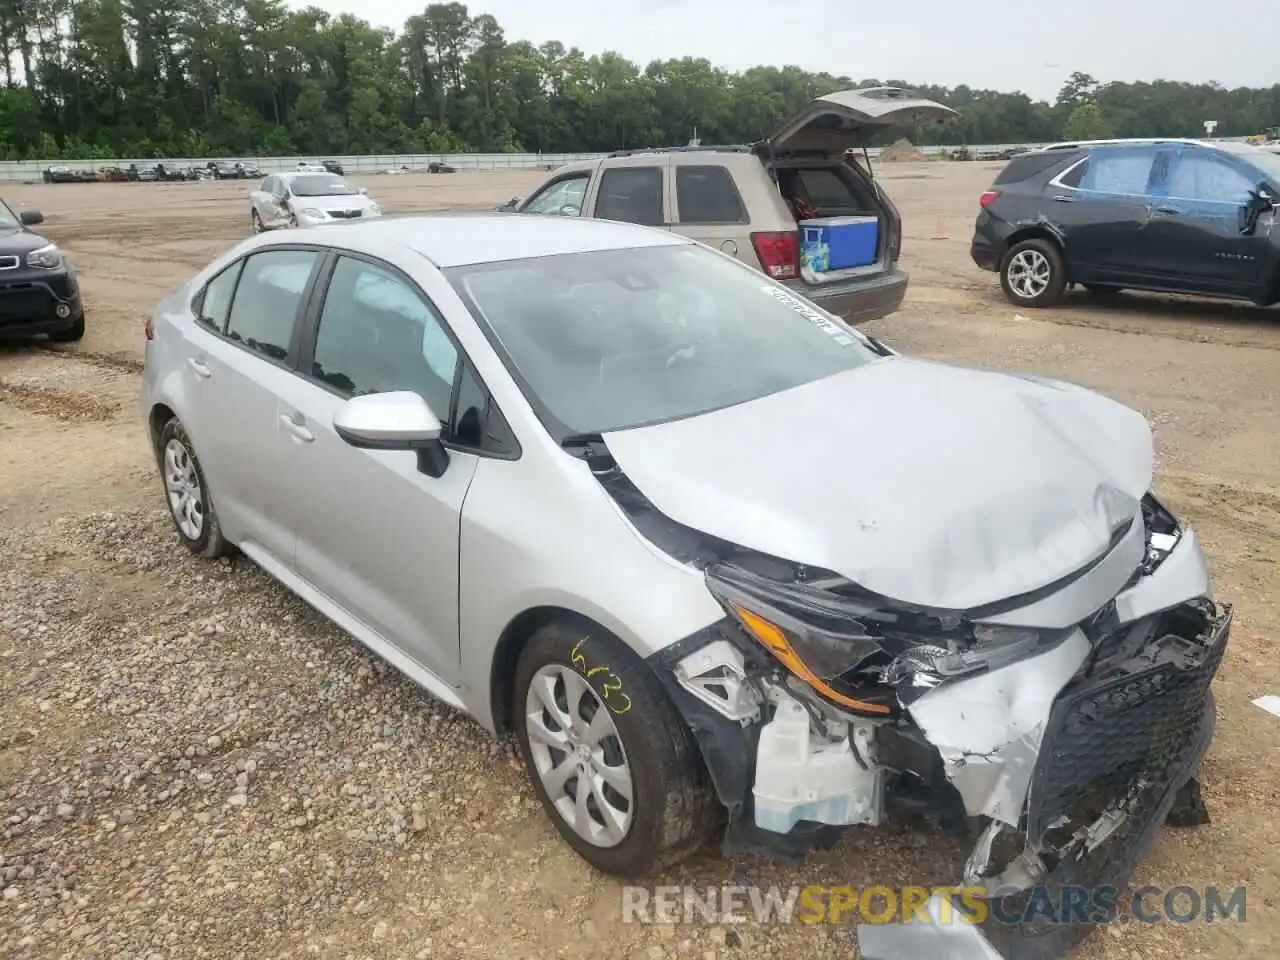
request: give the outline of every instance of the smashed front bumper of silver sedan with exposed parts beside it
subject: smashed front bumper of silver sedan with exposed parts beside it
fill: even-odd
[[[1123,888],[1208,749],[1210,685],[1233,611],[1207,594],[1185,530],[1155,572],[1056,646],[913,690],[893,719],[845,714],[842,728],[840,712],[794,678],[785,689],[753,684],[769,660],[732,621],[653,666],[727,808],[727,852],[824,846],[841,827],[879,823],[904,780],[950,804],[952,822],[986,824],[957,884],[983,891],[986,919],[966,914],[959,893],[951,904],[934,897],[929,923],[860,924],[863,957],[1056,960],[1105,919],[1044,915],[1025,909],[1029,899]],[[808,727],[796,726],[800,703]]]

